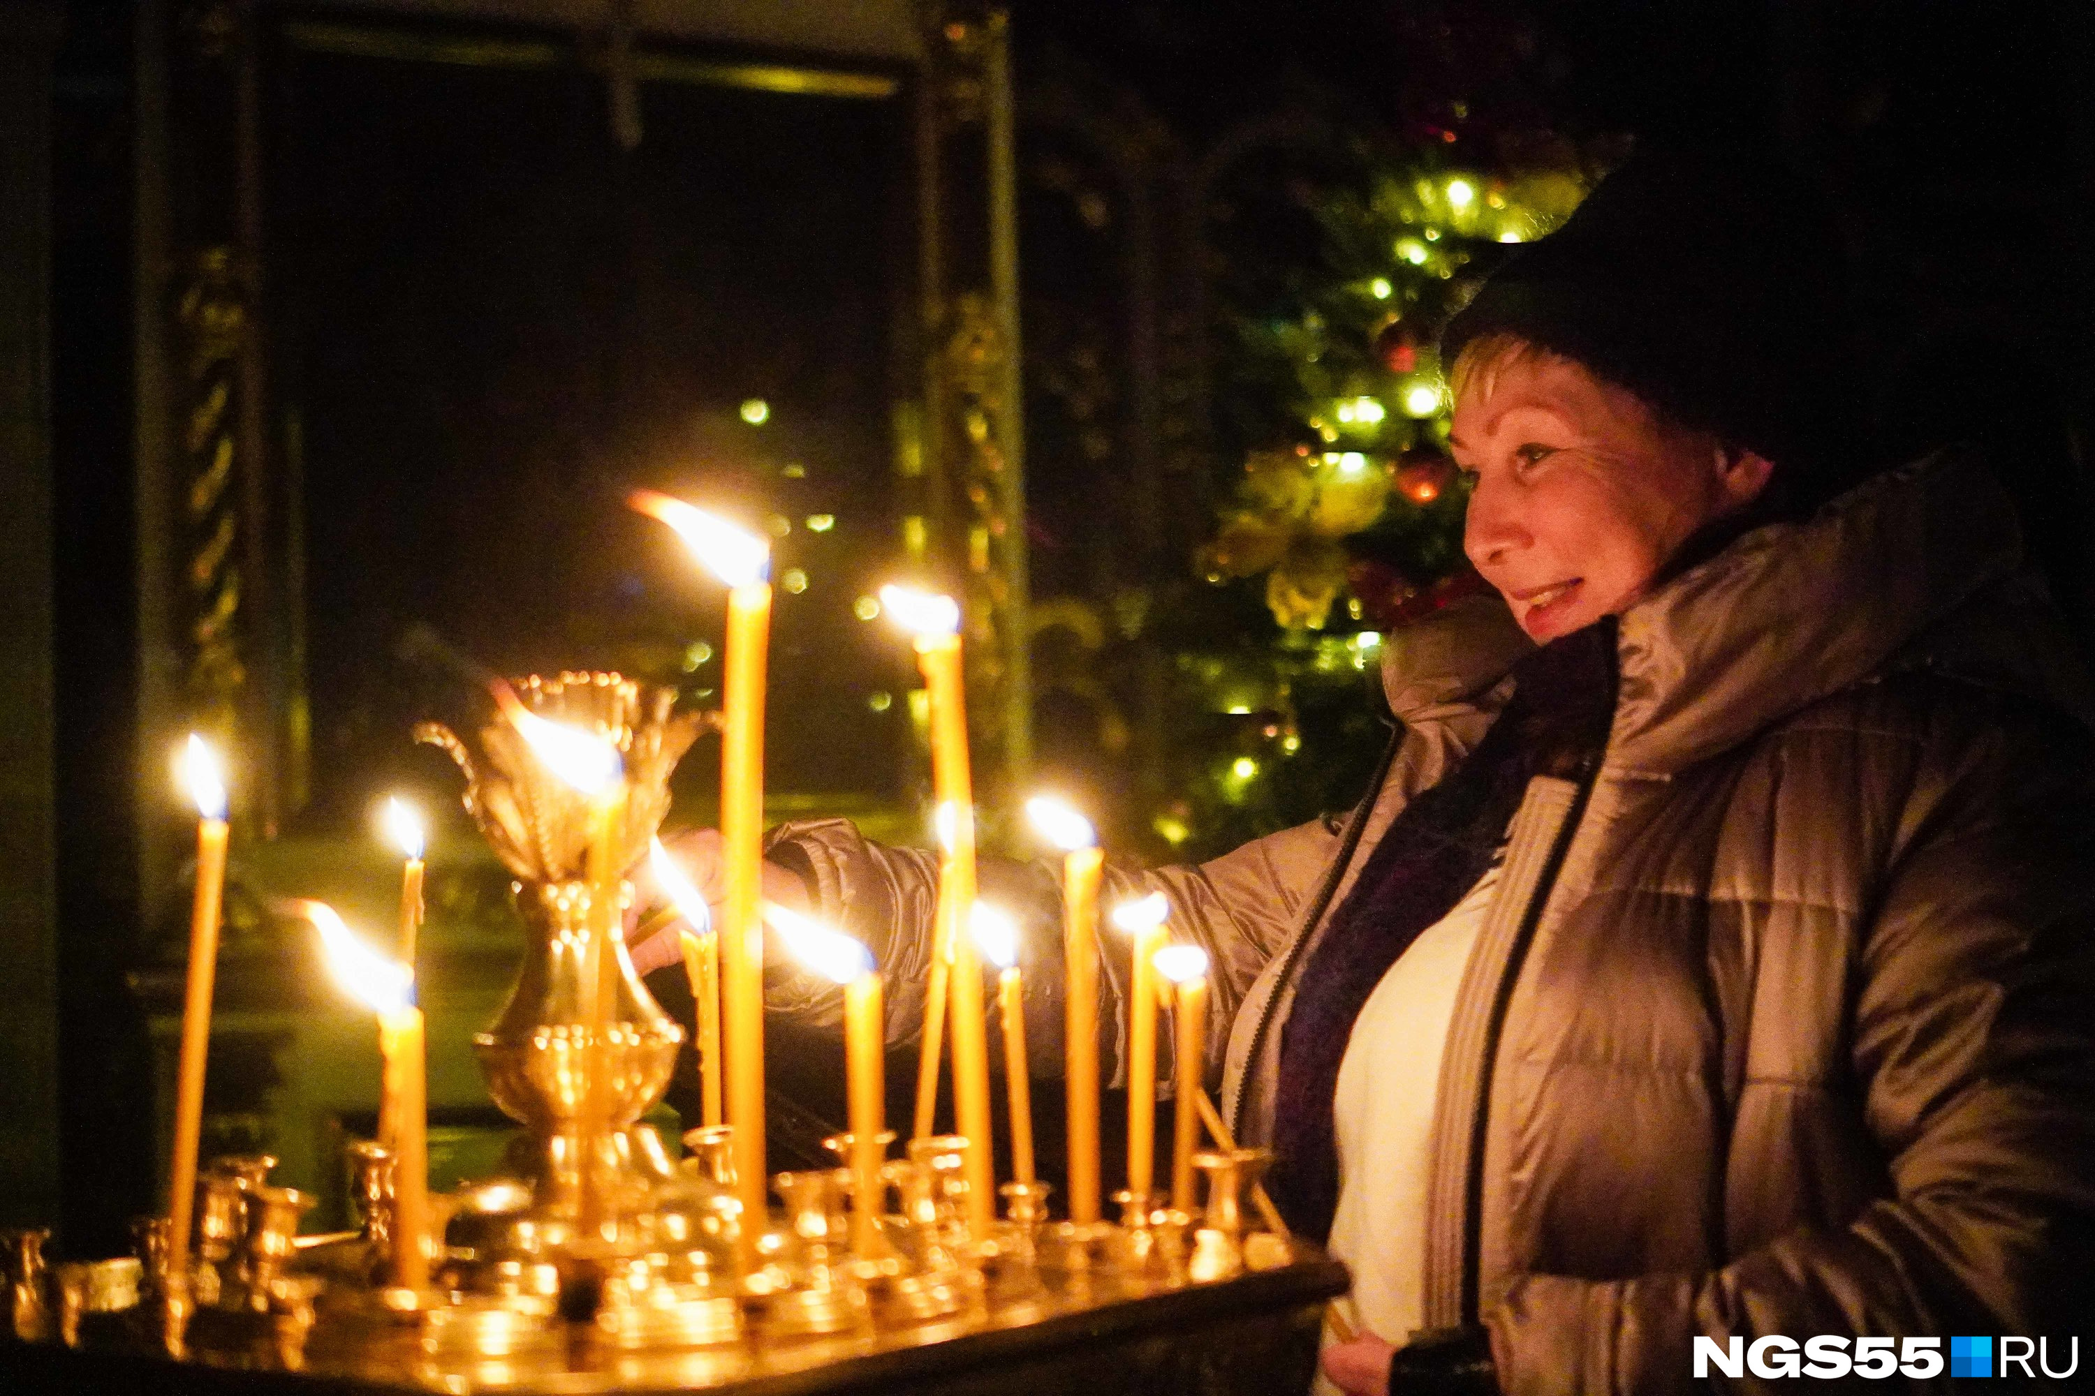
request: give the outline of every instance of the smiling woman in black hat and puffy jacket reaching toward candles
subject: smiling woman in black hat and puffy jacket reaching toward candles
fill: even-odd
[[[1391,638],[1349,820],[1112,875],[1211,950],[1226,1113],[1355,1270],[1343,1390],[1674,1392],[1697,1335],[2085,1316],[2095,705],[1976,460],[1856,479],[1770,188],[1640,157],[1485,285],[1446,352],[1506,607]],[[913,1021],[928,856],[830,823],[773,858]],[[1052,925],[1048,869],[985,887]]]

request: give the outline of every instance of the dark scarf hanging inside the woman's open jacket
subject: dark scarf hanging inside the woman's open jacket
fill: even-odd
[[[1615,714],[1615,620],[1544,645],[1513,680],[1477,749],[1389,825],[1301,969],[1280,1032],[1272,1195],[1288,1226],[1320,1243],[1339,1206],[1332,1097],[1353,1019],[1397,956],[1492,866],[1527,781],[1592,768]],[[1364,810],[1372,802],[1370,791]]]

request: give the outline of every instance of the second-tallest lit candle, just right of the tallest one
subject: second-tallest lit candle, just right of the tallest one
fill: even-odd
[[[882,586],[880,605],[911,632],[930,693],[932,797],[951,810],[951,839],[939,877],[943,933],[951,956],[953,1124],[968,1139],[968,1231],[987,1241],[995,1222],[995,1174],[989,1166],[989,1040],[983,1023],[983,963],[964,936],[974,906],[974,789],[968,774],[968,703],[960,668],[960,605],[901,586]],[[939,954],[932,954],[936,975]],[[920,1095],[922,1101],[922,1095]]]

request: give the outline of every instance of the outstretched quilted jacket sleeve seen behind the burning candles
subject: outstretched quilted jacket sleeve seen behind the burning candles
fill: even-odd
[[[1330,858],[1337,835],[1324,820],[1253,839],[1213,862],[1138,869],[1108,862],[1100,892],[1102,1040],[1100,1065],[1119,1082],[1119,1042],[1125,1023],[1129,946],[1106,923],[1127,898],[1163,892],[1171,900],[1171,929],[1207,948],[1213,959],[1211,1055],[1219,1061],[1226,1028],[1251,980],[1286,942],[1293,919]],[[924,1021],[924,986],[930,973],[932,908],[939,898],[939,860],[928,850],[888,848],[863,837],[846,820],[781,825],[769,854],[807,879],[819,915],[865,940],[880,963],[888,1000],[888,1040],[909,1042]],[[1062,875],[1060,860],[1018,862],[983,858],[980,896],[1020,925],[1020,969],[1027,986],[1027,1040],[1041,1074],[1062,1063]],[[767,1007],[807,1026],[834,1026],[842,996],[811,975],[775,973]],[[1169,1042],[1161,1044],[1169,1065]]]

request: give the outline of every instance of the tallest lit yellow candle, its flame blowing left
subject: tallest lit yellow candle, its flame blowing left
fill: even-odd
[[[727,1124],[735,1130],[735,1195],[754,1262],[765,1210],[765,659],[771,634],[771,544],[654,490],[635,509],[668,523],[727,582],[727,659],[721,726],[721,1009],[727,1032]]]

